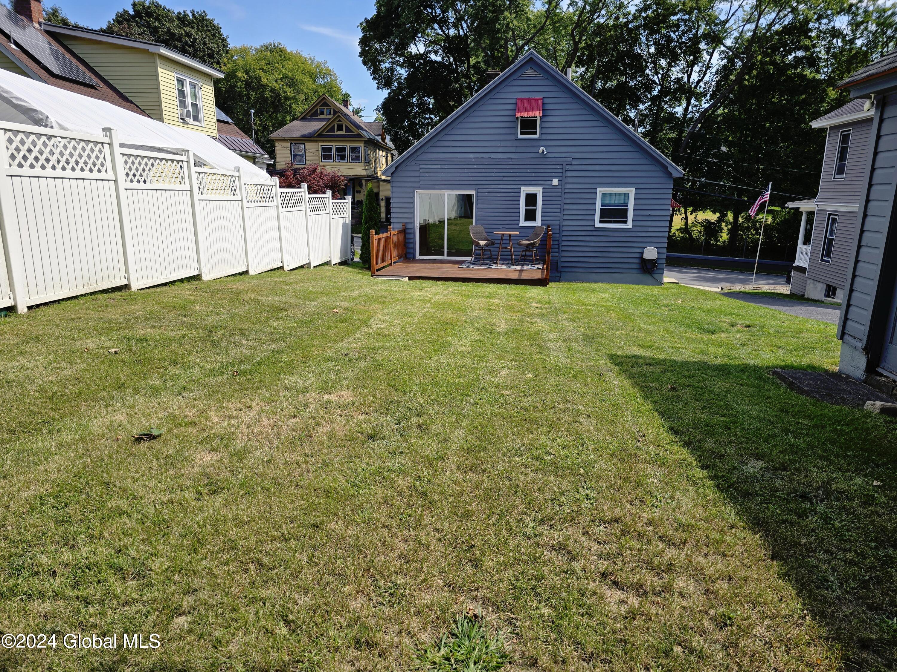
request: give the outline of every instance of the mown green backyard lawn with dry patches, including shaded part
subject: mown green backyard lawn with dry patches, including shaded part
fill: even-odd
[[[893,669],[897,422],[768,373],[834,331],[345,267],[0,319],[0,632],[162,642],[0,669]]]

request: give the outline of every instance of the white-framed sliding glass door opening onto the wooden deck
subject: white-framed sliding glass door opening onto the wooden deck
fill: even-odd
[[[473,254],[474,192],[417,192],[417,255],[463,259]]]

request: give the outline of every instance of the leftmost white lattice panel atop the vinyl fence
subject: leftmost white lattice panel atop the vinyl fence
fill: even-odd
[[[4,131],[9,168],[109,175],[105,142],[58,135]]]

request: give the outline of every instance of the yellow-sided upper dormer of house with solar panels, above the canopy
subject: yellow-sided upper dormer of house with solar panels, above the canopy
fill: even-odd
[[[83,58],[153,119],[218,137],[211,65],[155,42],[42,22],[41,28]]]

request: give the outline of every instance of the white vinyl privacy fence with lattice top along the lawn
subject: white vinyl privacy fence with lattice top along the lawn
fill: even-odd
[[[0,308],[349,259],[348,199],[104,133],[0,124]]]

